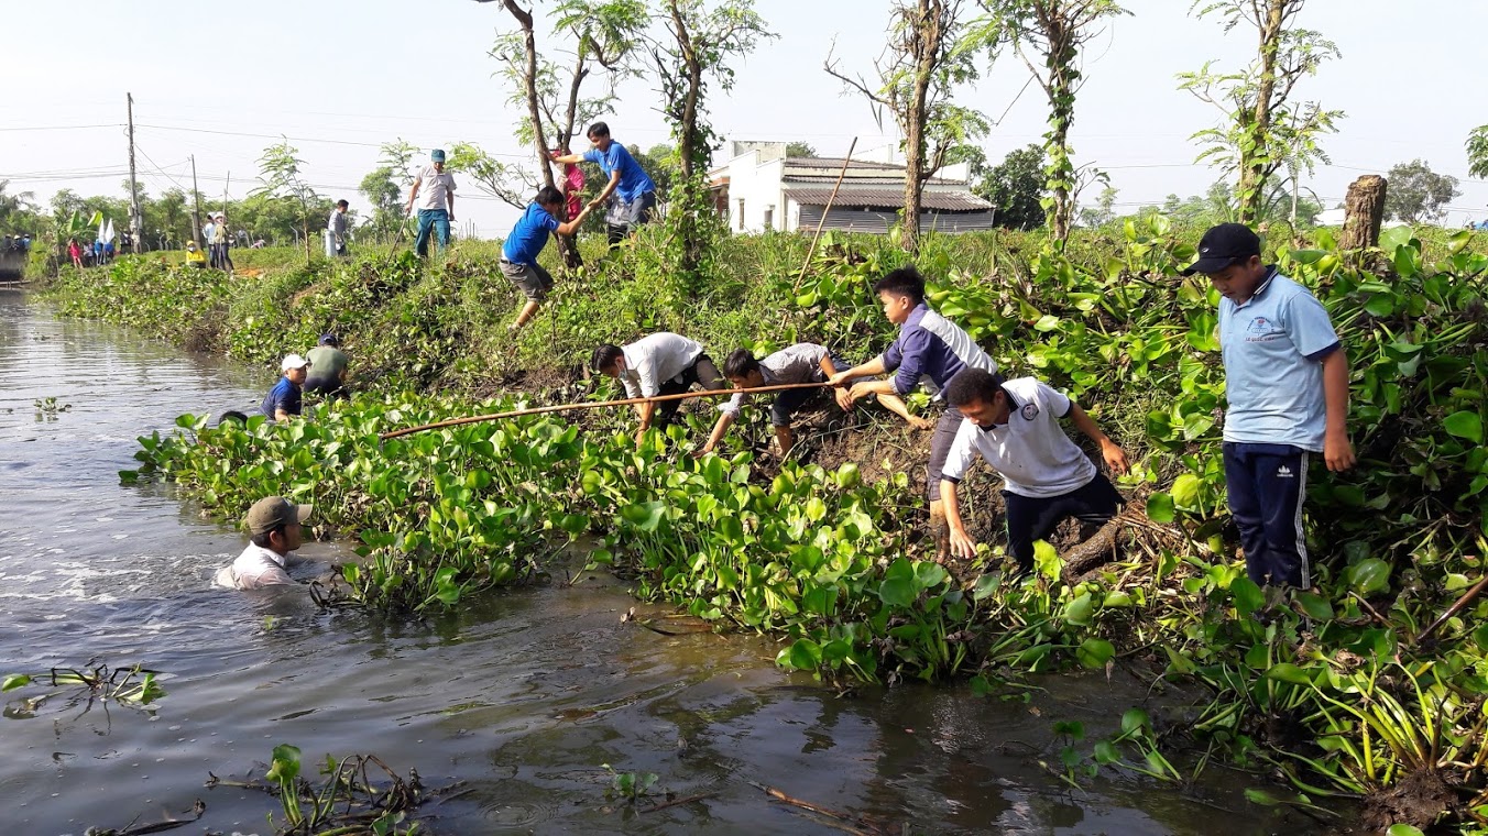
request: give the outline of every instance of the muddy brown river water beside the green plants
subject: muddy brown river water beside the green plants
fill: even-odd
[[[1051,724],[1110,732],[1146,684],[1117,671],[1037,680],[1033,699],[964,686],[841,698],[778,671],[757,637],[665,637],[620,616],[606,576],[493,594],[427,622],[321,613],[304,588],[216,589],[243,547],[170,488],[124,486],[135,437],[182,412],[253,406],[257,370],[183,356],[112,326],[57,320],[0,290],[0,674],[85,663],[162,672],[153,710],[0,696],[6,833],[124,829],[205,815],[176,833],[271,833],[274,799],[207,788],[262,775],[274,745],[375,753],[464,794],[421,809],[433,833],[841,833],[751,782],[914,833],[1268,833],[1257,779],[1211,768],[1180,791],[1106,772],[1061,782]],[[36,402],[57,399],[57,412]],[[345,546],[308,544],[315,574]],[[643,607],[643,610],[647,610]],[[662,614],[661,608],[650,608]],[[1086,744],[1088,751],[1088,744]],[[601,765],[705,800],[637,812]]]

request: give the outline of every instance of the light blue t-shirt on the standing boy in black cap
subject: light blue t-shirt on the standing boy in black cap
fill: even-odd
[[[1219,342],[1229,399],[1225,440],[1321,452],[1321,360],[1338,345],[1323,303],[1271,268],[1244,305],[1220,299]]]

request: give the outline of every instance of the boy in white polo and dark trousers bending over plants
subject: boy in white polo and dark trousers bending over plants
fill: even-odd
[[[951,528],[951,552],[970,559],[976,541],[961,522],[957,486],[981,454],[1001,475],[1007,518],[1007,550],[1018,571],[1033,568],[1033,544],[1065,518],[1104,524],[1116,516],[1120,494],[1059,425],[1061,418],[1100,445],[1115,473],[1126,472],[1126,454],[1067,396],[1034,378],[1004,379],[995,372],[963,369],[951,378],[945,399],[964,419],[940,470],[940,498]]]

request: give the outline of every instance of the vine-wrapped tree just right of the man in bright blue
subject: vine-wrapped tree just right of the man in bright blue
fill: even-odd
[[[726,234],[708,192],[708,162],[719,138],[707,120],[708,83],[725,94],[734,89],[729,62],[775,34],[765,28],[753,0],[653,1],[661,27],[643,40],[676,143],[677,176],[667,193],[667,228],[686,295],[705,283],[716,239]]]

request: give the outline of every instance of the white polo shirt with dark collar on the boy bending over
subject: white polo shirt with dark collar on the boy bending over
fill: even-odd
[[[1070,399],[1034,378],[1003,384],[1009,403],[1007,422],[984,430],[969,418],[951,442],[942,476],[960,482],[982,454],[1006,482],[1009,492],[1021,497],[1058,497],[1077,491],[1095,479],[1095,463],[1059,425],[1070,412]]]

